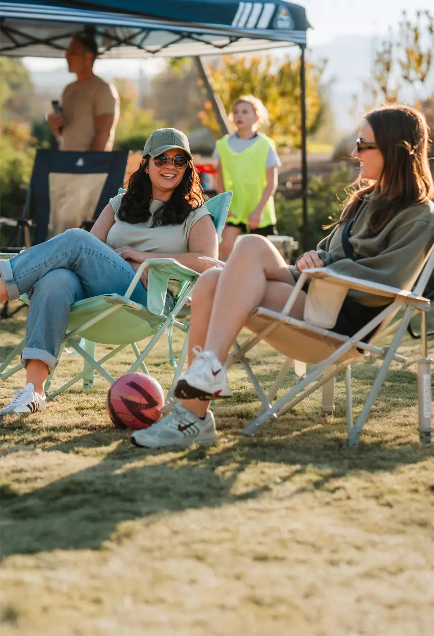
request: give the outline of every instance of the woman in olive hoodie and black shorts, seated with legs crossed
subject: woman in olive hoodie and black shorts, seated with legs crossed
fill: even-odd
[[[248,235],[224,268],[200,277],[191,307],[189,368],[175,389],[184,401],[149,429],[134,432],[135,445],[215,441],[207,409],[210,399],[231,396],[224,366],[229,349],[255,307],[282,310],[303,270],[326,266],[380,284],[412,286],[434,240],[434,183],[423,115],[399,104],[368,113],[353,156],[360,161],[360,180],[316,250],[288,266],[268,240]],[[292,316],[302,319],[305,300],[301,292]],[[351,336],[388,303],[390,298],[349,291],[333,330]]]

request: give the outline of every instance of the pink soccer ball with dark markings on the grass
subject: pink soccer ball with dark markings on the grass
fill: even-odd
[[[127,373],[111,385],[105,406],[113,424],[121,429],[147,429],[161,417],[163,389],[146,373]]]

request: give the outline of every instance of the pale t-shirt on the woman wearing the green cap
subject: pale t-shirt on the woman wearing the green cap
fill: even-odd
[[[142,252],[168,252],[169,254],[185,254],[189,251],[188,239],[194,223],[210,212],[206,205],[201,205],[187,216],[184,223],[179,225],[153,225],[153,215],[158,210],[161,201],[151,200],[151,217],[145,223],[126,223],[118,217],[119,206],[123,194],[113,197],[111,206],[114,211],[114,225],[111,226],[105,242],[110,247],[118,249],[129,245]]]

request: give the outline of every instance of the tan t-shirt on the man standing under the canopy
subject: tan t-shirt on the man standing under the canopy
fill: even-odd
[[[62,95],[65,125],[60,142],[61,150],[86,151],[95,137],[95,117],[114,114],[105,150],[111,150],[114,131],[119,118],[119,95],[112,84],[94,75],[84,82],[74,81]]]

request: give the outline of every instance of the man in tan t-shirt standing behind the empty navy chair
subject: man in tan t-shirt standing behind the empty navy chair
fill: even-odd
[[[75,73],[77,79],[63,92],[61,113],[48,115],[51,130],[60,137],[61,150],[113,148],[119,95],[113,85],[93,73],[97,52],[95,39],[86,33],[74,35],[66,50],[69,73]]]

